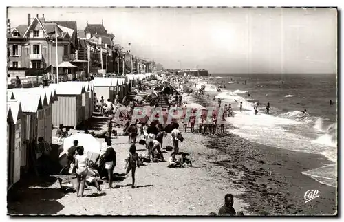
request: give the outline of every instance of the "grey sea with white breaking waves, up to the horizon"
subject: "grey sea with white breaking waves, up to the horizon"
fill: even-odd
[[[226,118],[236,128],[231,133],[268,146],[324,155],[332,164],[303,174],[337,186],[336,74],[212,74],[198,82],[197,88],[203,84],[206,93],[215,96],[214,105],[221,98],[222,106],[233,107],[234,116]],[[217,91],[219,85],[221,91]],[[259,104],[257,115],[255,103]],[[302,113],[305,109],[309,115]]]

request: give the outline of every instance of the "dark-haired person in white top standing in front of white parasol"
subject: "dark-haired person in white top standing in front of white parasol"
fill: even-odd
[[[75,157],[75,166],[76,166],[76,178],[78,179],[78,184],[76,185],[76,197],[79,197],[79,192],[81,190],[81,197],[83,197],[84,188],[85,188],[85,179],[87,176],[87,164],[88,157],[84,154],[83,146],[78,146],[76,148],[78,153]],[[81,187],[80,187],[81,185]]]

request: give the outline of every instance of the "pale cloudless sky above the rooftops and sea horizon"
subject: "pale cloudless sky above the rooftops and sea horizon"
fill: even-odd
[[[47,21],[105,26],[115,43],[165,69],[211,74],[335,74],[333,8],[8,8],[11,27]]]

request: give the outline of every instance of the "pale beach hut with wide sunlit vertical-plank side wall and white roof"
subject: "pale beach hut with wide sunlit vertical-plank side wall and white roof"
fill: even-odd
[[[72,87],[71,87],[72,86]],[[82,94],[85,93],[85,87],[80,84],[50,84],[56,90],[58,101],[52,104],[52,124],[58,127],[74,127],[83,122]]]

